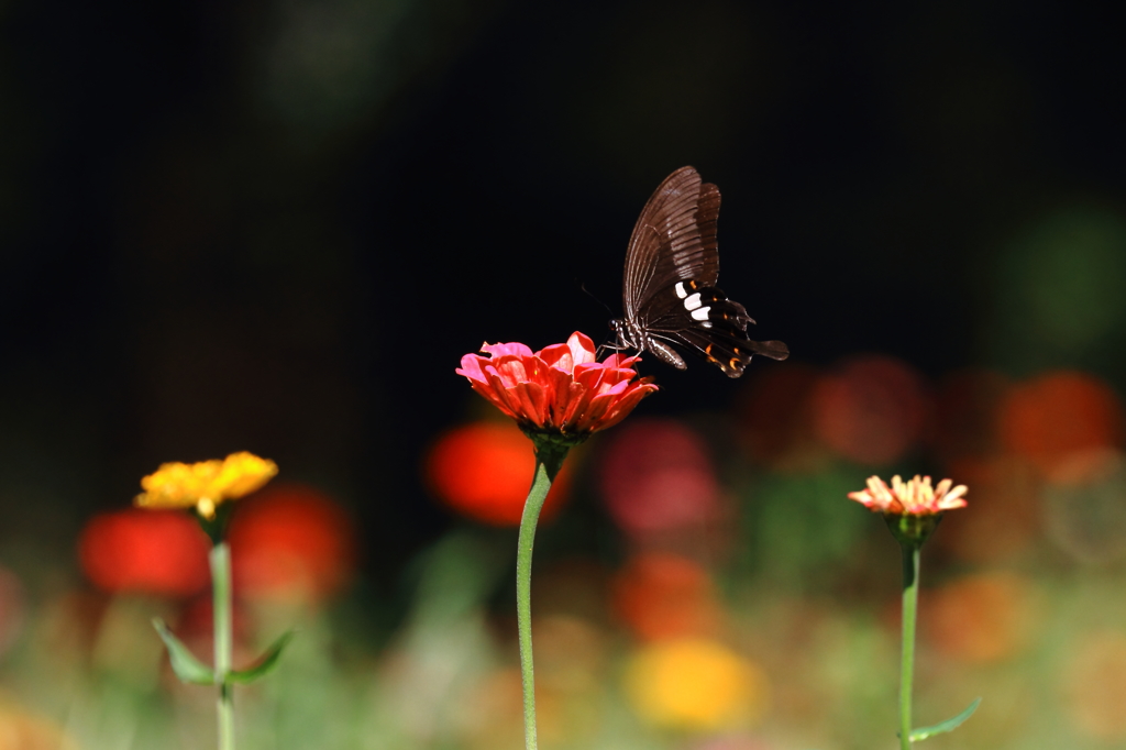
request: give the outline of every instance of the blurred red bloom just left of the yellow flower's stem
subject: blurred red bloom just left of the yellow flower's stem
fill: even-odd
[[[79,536],[82,570],[106,591],[190,596],[207,586],[207,537],[179,510],[95,516]]]

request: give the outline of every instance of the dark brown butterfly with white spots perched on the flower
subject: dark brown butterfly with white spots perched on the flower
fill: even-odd
[[[610,321],[617,334],[614,348],[652,351],[685,369],[685,360],[669,346],[678,343],[727,377],[742,375],[752,355],[789,356],[781,341],[747,338],[747,324],[754,321],[743,305],[715,288],[718,216],[720,189],[701,185],[691,167],[681,167],[656,188],[629,238],[622,289],[625,316]]]

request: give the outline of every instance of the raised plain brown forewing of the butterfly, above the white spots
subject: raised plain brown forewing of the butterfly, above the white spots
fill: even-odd
[[[642,209],[626,251],[622,300],[628,320],[636,320],[653,295],[677,282],[715,285],[718,217],[718,188],[701,184],[691,167],[681,167],[661,182]]]

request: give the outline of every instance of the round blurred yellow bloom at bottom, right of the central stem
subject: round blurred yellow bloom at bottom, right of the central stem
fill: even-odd
[[[626,667],[625,689],[634,711],[652,724],[713,731],[757,720],[767,679],[720,643],[679,639],[635,653]]]

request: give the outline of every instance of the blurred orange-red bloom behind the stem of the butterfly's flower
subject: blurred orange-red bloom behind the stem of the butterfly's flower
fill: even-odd
[[[454,428],[435,444],[427,479],[454,510],[494,526],[516,526],[536,471],[528,439],[511,422],[477,422]],[[570,471],[563,467],[544,503],[551,518],[566,498]]]

